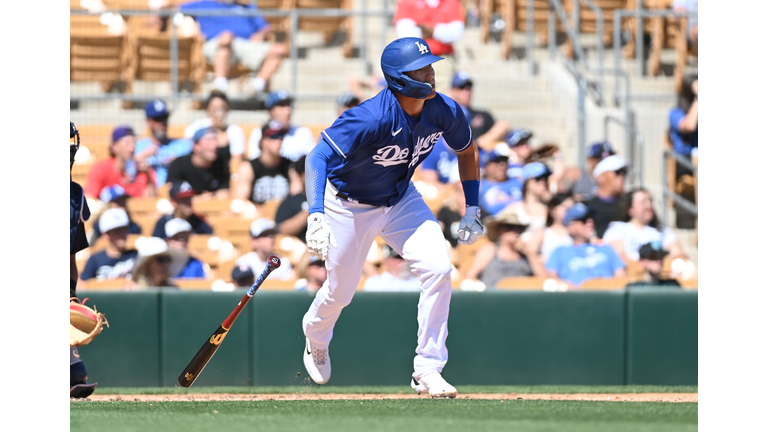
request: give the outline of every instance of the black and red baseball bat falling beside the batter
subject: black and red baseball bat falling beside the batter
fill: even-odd
[[[187,367],[184,368],[183,371],[181,371],[181,374],[179,375],[178,382],[179,385],[182,387],[189,387],[191,386],[198,376],[200,376],[200,373],[203,372],[203,369],[205,369],[205,366],[208,364],[209,361],[211,361],[211,358],[214,354],[216,354],[216,351],[219,349],[219,346],[221,346],[221,343],[224,341],[224,337],[227,336],[227,332],[229,329],[232,328],[232,325],[235,323],[235,320],[240,315],[240,312],[243,311],[243,308],[245,305],[248,304],[248,301],[253,297],[253,295],[256,293],[256,291],[259,289],[262,283],[264,283],[264,280],[269,276],[270,273],[272,273],[273,270],[280,267],[280,258],[272,255],[267,259],[267,266],[264,267],[264,271],[261,272],[261,275],[256,280],[256,282],[251,286],[250,289],[248,289],[248,292],[245,293],[243,296],[243,299],[240,300],[240,303],[237,304],[235,309],[232,311],[232,313],[229,314],[227,319],[224,320],[223,323],[219,326],[219,328],[216,329],[216,331],[213,332],[211,337],[205,340],[203,343],[203,346],[200,347],[200,349],[197,351],[197,354],[195,354],[194,357],[192,357],[192,360],[189,361],[187,364]]]

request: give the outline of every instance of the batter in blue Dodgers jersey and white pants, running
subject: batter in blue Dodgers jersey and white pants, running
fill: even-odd
[[[438,60],[420,38],[387,45],[381,55],[387,88],[346,110],[307,156],[307,247],[328,269],[302,322],[304,365],[317,384],[331,377],[333,327],[380,235],[421,281],[411,387],[432,397],[456,397],[456,389],[440,375],[448,360],[451,263],[440,225],[411,182],[441,136],[458,154],[466,195],[459,241],[474,243],[483,226],[477,144],[459,105],[435,92],[432,63]]]

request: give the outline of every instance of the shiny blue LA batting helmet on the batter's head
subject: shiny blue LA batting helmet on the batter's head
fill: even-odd
[[[381,70],[387,86],[405,96],[424,99],[432,93],[432,86],[405,75],[432,64],[442,57],[432,55],[429,45],[421,38],[401,38],[392,41],[381,53]]]

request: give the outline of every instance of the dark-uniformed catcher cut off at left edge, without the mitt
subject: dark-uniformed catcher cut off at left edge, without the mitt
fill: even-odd
[[[75,153],[80,148],[80,133],[75,124],[69,122],[69,170],[75,163]],[[77,298],[77,261],[75,254],[88,247],[85,236],[85,221],[91,217],[91,210],[85,201],[82,186],[69,177],[69,301],[80,303]],[[93,393],[97,383],[88,384],[88,373],[80,359],[77,347],[69,348],[69,397],[85,398]]]

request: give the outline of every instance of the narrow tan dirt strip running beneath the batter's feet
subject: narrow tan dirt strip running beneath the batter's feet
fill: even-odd
[[[193,401],[293,401],[293,400],[382,400],[429,398],[414,394],[163,394],[163,395],[100,395],[93,394],[87,399],[72,401],[92,402],[193,402]],[[493,400],[576,400],[610,402],[697,402],[698,393],[571,393],[571,394],[530,394],[530,393],[473,393],[459,394],[458,399]]]

